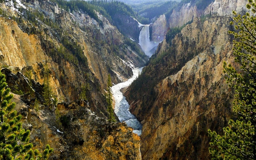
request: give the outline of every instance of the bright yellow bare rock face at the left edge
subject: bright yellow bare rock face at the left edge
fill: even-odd
[[[36,35],[24,33],[14,20],[0,17],[0,54],[5,65],[32,66],[46,59]]]

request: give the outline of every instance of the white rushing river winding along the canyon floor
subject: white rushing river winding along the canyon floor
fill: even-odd
[[[130,79],[128,79],[128,81],[123,83],[118,83],[111,88],[113,97],[115,99],[114,111],[119,121],[120,122],[125,121],[128,127],[133,128],[133,133],[136,133],[138,135],[141,135],[142,133],[142,124],[133,114],[130,113],[129,111],[130,105],[126,101],[120,89],[124,87],[128,87],[139,76],[139,72],[142,71],[142,68],[143,67],[133,69],[132,70],[133,76]]]

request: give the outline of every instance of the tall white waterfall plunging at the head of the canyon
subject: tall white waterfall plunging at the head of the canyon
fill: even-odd
[[[144,53],[151,57],[157,49],[159,42],[150,41],[150,25],[143,25],[139,35],[139,44],[144,51]]]

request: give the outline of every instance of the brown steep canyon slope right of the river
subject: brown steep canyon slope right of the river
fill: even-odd
[[[143,123],[142,159],[209,159],[207,130],[222,132],[231,116],[232,90],[223,61],[233,64],[229,17],[194,17],[157,55],[126,96]]]

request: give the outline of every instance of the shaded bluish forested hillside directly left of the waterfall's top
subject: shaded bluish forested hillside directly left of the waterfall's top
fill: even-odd
[[[67,12],[79,11],[81,13],[88,14],[90,17],[94,18],[101,26],[103,24],[100,16],[104,16],[108,21],[117,27],[117,29],[126,37],[132,38],[133,40],[139,41],[139,28],[138,21],[142,24],[148,24],[148,18],[144,18],[138,15],[133,9],[119,1],[82,1],[82,0],[52,0],[57,2],[60,8],[66,10]],[[95,12],[96,11],[96,12]],[[99,16],[98,16],[99,15]],[[137,21],[138,20],[138,21]],[[128,42],[128,41],[126,41]],[[138,54],[143,56],[138,45],[134,46]]]

